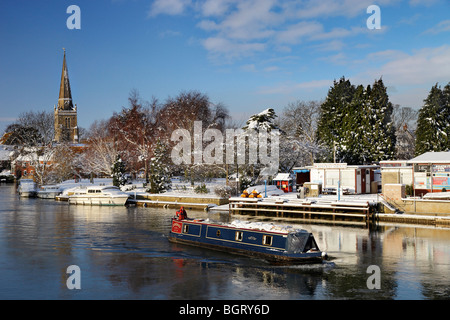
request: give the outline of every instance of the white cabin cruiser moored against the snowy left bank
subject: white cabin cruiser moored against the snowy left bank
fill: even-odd
[[[69,204],[123,206],[128,200],[128,193],[114,186],[90,186],[76,189],[69,195]]]

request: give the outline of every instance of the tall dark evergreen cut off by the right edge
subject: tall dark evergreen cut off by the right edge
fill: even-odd
[[[444,90],[435,84],[419,110],[416,131],[416,155],[450,149],[450,83]]]

